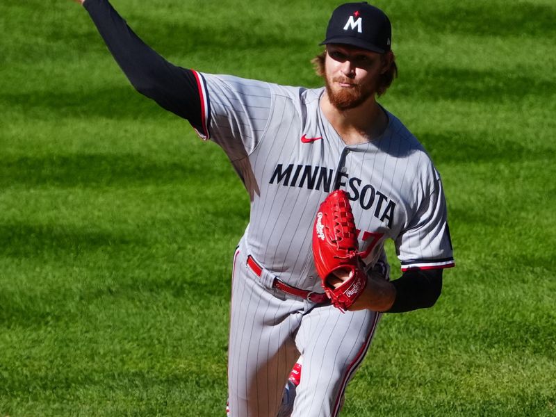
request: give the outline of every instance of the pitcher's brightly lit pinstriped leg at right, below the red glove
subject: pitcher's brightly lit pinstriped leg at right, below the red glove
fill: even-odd
[[[292,417],[337,416],[347,383],[370,346],[381,314],[341,313],[318,306],[302,319],[296,336],[303,355]]]

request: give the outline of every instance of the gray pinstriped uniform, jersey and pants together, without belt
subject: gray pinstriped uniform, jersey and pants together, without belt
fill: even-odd
[[[251,197],[232,283],[231,416],[275,416],[299,354],[304,363],[293,416],[336,416],[380,315],[312,306],[272,290],[272,280],[322,292],[311,233],[320,202],[334,188],[350,195],[368,268],[386,262],[389,238],[403,268],[452,266],[440,176],[391,113],[380,138],[346,146],[320,111],[323,89],[198,76],[206,88],[207,135]],[[263,267],[261,277],[246,265],[248,255]]]

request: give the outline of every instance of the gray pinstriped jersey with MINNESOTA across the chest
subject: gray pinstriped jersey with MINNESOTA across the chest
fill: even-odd
[[[395,116],[380,138],[345,145],[320,111],[324,88],[196,73],[204,138],[224,149],[251,196],[245,240],[288,284],[320,288],[311,252],[318,206],[350,195],[360,250],[372,266],[395,242],[402,270],[454,265],[439,173]],[[302,138],[304,140],[302,140]]]

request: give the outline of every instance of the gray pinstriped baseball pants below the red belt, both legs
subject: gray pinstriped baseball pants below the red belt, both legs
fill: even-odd
[[[343,393],[368,350],[380,313],[341,313],[267,288],[234,256],[228,358],[232,417],[275,417],[295,361],[303,370],[292,417],[337,416]],[[267,279],[265,284],[268,284]]]

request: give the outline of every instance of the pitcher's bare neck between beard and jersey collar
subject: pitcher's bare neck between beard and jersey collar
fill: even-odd
[[[355,108],[339,110],[325,92],[320,100],[320,109],[346,145],[369,142],[382,135],[388,124],[388,117],[375,97],[369,97]]]

